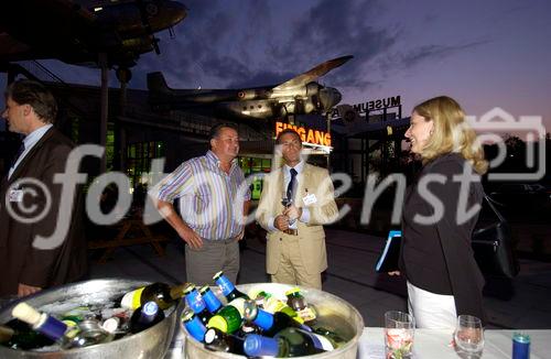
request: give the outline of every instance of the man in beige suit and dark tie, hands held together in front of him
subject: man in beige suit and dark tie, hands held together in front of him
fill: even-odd
[[[327,269],[323,225],[338,209],[327,170],[301,159],[302,141],[291,129],[277,139],[284,165],[264,177],[257,220],[268,230],[266,269],[272,282],[321,290]],[[283,198],[292,203],[283,206]]]

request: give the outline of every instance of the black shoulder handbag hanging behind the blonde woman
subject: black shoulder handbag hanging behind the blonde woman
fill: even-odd
[[[486,194],[486,203],[497,221],[473,231],[472,247],[480,271],[486,275],[515,278],[519,265],[511,244],[511,229]]]

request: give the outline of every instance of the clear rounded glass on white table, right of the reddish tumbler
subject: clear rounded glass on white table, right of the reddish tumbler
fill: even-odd
[[[484,328],[480,319],[472,315],[460,315],[454,339],[462,358],[479,358],[484,349]]]

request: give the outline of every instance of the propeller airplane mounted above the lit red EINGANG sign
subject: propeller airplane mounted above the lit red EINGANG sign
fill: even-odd
[[[148,74],[149,102],[154,110],[182,110],[224,118],[273,120],[289,115],[326,113],[341,93],[315,81],[354,56],[329,59],[279,85],[241,89],[173,89],[160,72]]]

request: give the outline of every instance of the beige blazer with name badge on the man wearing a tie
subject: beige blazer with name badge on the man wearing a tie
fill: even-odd
[[[333,222],[338,217],[337,205],[334,198],[333,183],[327,170],[304,164],[299,181],[294,204],[296,207],[306,207],[303,198],[312,194],[316,203],[307,206],[310,221],[298,221],[298,239],[300,253],[309,274],[321,273],[327,269],[325,250],[325,231],[323,225]],[[266,230],[270,218],[283,213],[281,198],[284,193],[283,170],[279,168],[263,180],[262,194],[257,209],[257,220]],[[282,238],[289,236],[280,230],[269,231],[267,235],[266,270],[269,274],[278,272]],[[294,236],[293,236],[294,237]]]

